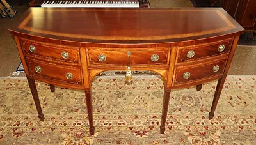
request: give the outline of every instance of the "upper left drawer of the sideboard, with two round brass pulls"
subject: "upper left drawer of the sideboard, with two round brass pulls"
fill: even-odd
[[[78,47],[67,47],[64,45],[51,45],[49,43],[21,40],[22,48],[26,54],[72,63],[80,63]]]

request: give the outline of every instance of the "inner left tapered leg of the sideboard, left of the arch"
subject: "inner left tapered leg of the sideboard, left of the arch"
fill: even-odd
[[[86,106],[89,118],[89,125],[90,125],[90,134],[94,135],[95,127],[93,126],[93,116],[92,116],[92,96],[90,91],[85,91],[86,96]]]

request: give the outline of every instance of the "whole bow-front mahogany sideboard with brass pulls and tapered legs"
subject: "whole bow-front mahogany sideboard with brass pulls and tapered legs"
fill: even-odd
[[[172,89],[218,79],[209,119],[234,55],[241,27],[223,8],[29,8],[12,27],[38,117],[35,80],[85,91],[94,134],[91,82],[97,73],[150,70],[163,77],[161,133]],[[125,81],[125,80],[124,80]]]

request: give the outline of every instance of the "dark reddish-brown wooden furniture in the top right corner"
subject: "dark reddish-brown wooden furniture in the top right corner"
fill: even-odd
[[[256,31],[255,0],[221,0],[221,6],[247,31]]]

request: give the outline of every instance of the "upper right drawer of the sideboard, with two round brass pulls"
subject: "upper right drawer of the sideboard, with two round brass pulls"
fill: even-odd
[[[224,42],[210,43],[210,45],[194,45],[191,47],[178,48],[177,62],[185,62],[201,59],[219,54],[228,53],[232,44],[232,39]]]

